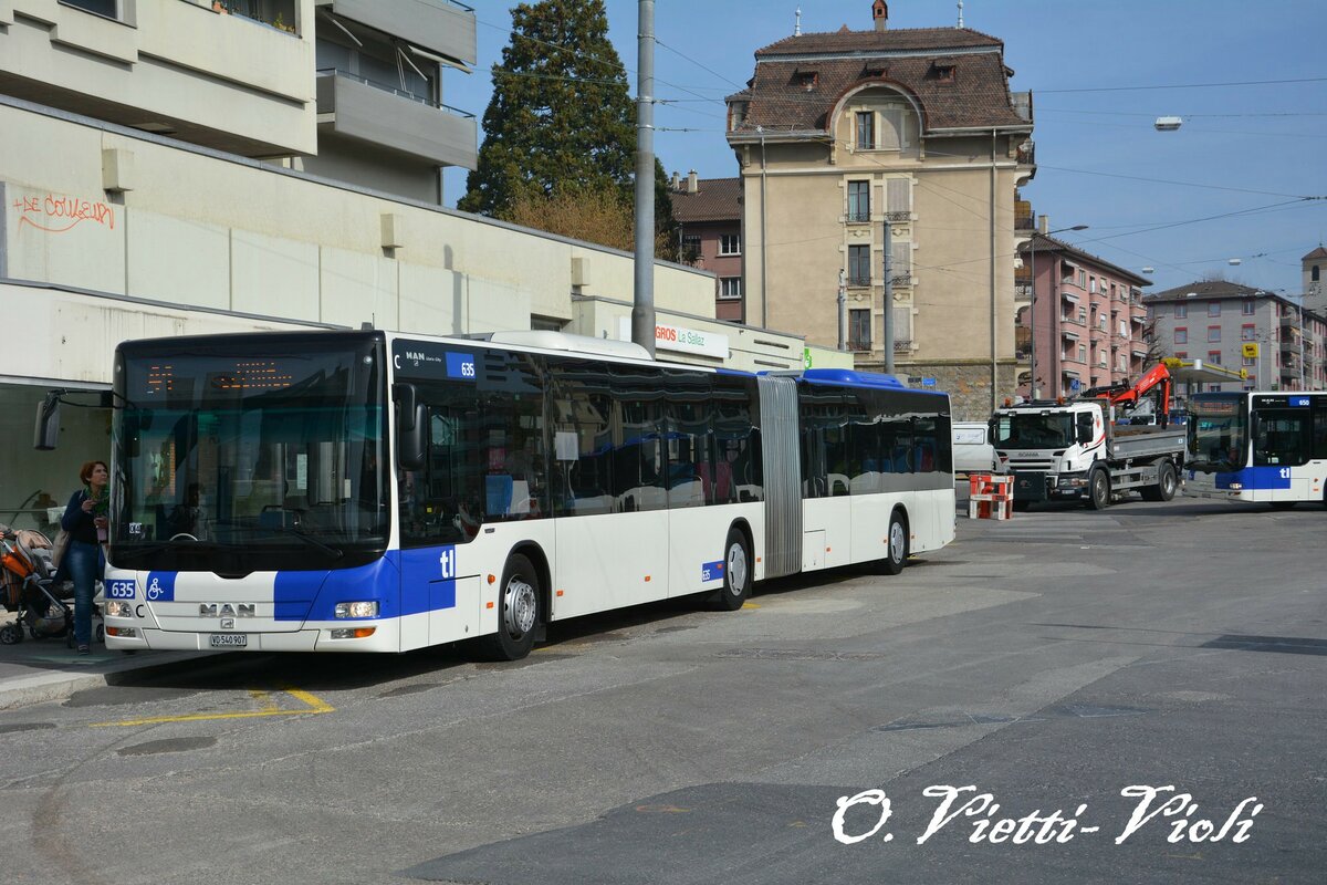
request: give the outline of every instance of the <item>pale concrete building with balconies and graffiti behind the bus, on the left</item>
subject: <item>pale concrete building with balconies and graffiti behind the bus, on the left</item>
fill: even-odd
[[[474,60],[471,11],[445,0],[215,7],[0,0],[11,330],[0,521],[41,525],[78,464],[109,456],[110,414],[94,394],[126,338],[364,322],[630,337],[632,255],[438,204],[438,167],[474,162],[474,121],[410,89],[439,97],[430,70]],[[317,76],[326,34],[356,46],[333,60],[345,76]],[[387,45],[427,86],[381,88],[390,72],[369,56]],[[661,358],[742,369],[808,358],[802,336],[714,320],[714,273],[661,261],[654,292]],[[89,407],[62,410],[60,450],[38,452],[35,409],[52,387],[86,391]]]

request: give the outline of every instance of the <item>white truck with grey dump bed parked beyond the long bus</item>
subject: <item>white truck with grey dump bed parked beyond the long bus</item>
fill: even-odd
[[[991,415],[991,442],[1014,475],[1014,510],[1080,499],[1103,510],[1125,492],[1170,500],[1185,460],[1185,429],[1117,425],[1109,397],[1028,402]],[[1165,421],[1165,411],[1160,411]]]

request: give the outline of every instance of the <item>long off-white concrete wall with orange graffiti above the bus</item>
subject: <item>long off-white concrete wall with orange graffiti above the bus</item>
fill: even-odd
[[[130,190],[104,191],[104,150],[130,158]],[[624,252],[7,105],[0,188],[9,277],[186,306],[455,334],[569,321],[573,257],[587,295],[630,300],[634,285]],[[709,273],[656,265],[662,309],[713,313],[713,292]]]

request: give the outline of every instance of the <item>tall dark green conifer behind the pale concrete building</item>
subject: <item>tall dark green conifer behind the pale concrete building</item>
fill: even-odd
[[[636,107],[604,0],[522,3],[511,17],[478,169],[456,207],[504,218],[518,202],[569,188],[618,190],[629,200]]]

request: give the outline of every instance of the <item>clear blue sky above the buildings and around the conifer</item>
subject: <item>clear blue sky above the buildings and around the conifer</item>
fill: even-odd
[[[470,4],[479,62],[449,72],[445,98],[482,119],[515,4]],[[803,32],[871,28],[871,0],[656,1],[656,96],[670,103],[656,109],[654,150],[669,172],[738,174],[723,97],[758,48],[792,33],[799,7]],[[637,15],[636,0],[608,0],[633,97]],[[957,19],[955,0],[889,4],[894,28]],[[1011,88],[1034,94],[1039,169],[1023,198],[1052,228],[1089,226],[1062,239],[1154,268],[1149,291],[1220,276],[1299,295],[1299,257],[1327,241],[1327,199],[1299,199],[1327,196],[1327,3],[966,0],[963,24],[1003,40]],[[1160,115],[1184,123],[1158,133]],[[464,182],[447,172],[449,204]]]

